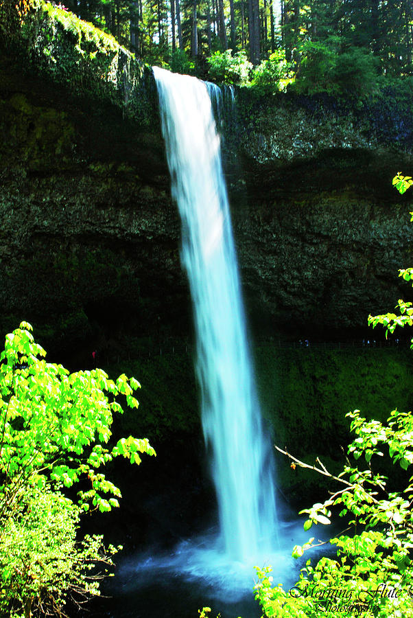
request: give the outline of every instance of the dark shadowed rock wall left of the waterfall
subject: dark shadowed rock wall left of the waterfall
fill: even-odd
[[[1,330],[26,316],[60,349],[158,330],[188,295],[156,127],[2,69]]]

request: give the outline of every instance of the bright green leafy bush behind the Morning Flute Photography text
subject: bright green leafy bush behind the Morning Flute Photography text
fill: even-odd
[[[348,415],[355,439],[349,456],[364,461],[358,466],[347,459],[338,478],[341,489],[307,514],[305,529],[329,523],[331,509],[340,506],[340,516],[349,520],[353,534],[331,539],[335,558],[321,558],[316,566],[307,560],[300,579],[289,593],[282,586],[271,587],[270,568],[257,569],[256,598],[266,617],[315,618],[322,613],[333,618],[337,612],[349,615],[366,611],[376,617],[412,615],[413,477],[403,491],[388,486],[388,479],[373,468],[373,459],[388,455],[403,470],[413,464],[413,416],[392,411],[387,424],[367,421],[356,410]],[[296,546],[300,558],[314,546],[314,538]]]

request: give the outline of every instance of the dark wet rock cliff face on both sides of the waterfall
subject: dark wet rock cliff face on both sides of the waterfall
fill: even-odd
[[[32,320],[60,348],[102,332],[190,332],[158,122],[143,126],[4,61],[0,71],[1,330]],[[411,197],[390,186],[408,172],[404,146],[356,139],[354,126],[346,141],[338,117],[319,142],[317,115],[298,135],[303,111],[294,117],[291,101],[274,110],[279,124],[268,108],[255,113],[259,131],[241,116],[226,163],[257,331],[360,327],[408,297],[397,269],[413,264]]]

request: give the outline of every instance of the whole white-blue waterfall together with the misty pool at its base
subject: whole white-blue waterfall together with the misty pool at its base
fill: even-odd
[[[219,89],[157,67],[154,76],[172,196],[182,220],[181,260],[191,289],[202,427],[219,526],[183,540],[172,553],[149,550],[120,562],[113,592],[121,602],[114,599],[109,615],[189,618],[202,601],[215,599],[224,618],[253,618],[261,615],[252,595],[253,566],[272,564],[279,581],[295,581],[291,548],[298,537],[295,523],[276,518],[270,442],[255,392],[209,95],[216,108]]]

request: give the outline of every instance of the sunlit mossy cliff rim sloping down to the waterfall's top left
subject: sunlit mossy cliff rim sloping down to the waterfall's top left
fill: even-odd
[[[0,17],[3,12],[0,5]],[[109,100],[141,124],[151,122],[152,107],[141,96],[145,67],[110,34],[53,3],[33,0],[21,20],[9,21],[6,35],[8,53],[23,57],[33,72],[75,94]]]

